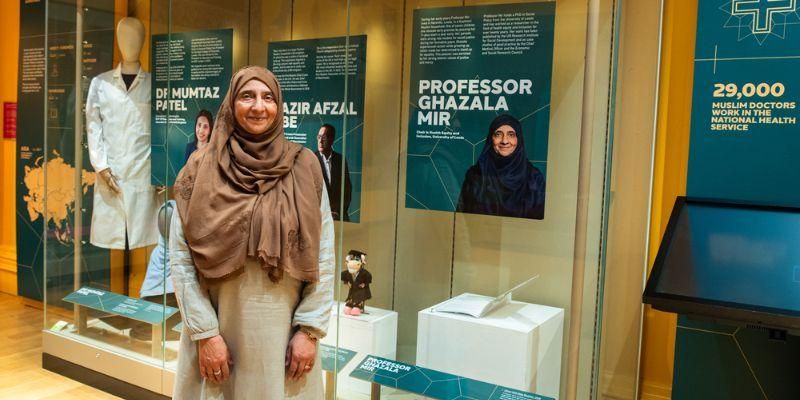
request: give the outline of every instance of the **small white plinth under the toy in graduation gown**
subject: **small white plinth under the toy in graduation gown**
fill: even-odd
[[[367,314],[353,317],[340,313],[343,308],[344,303],[333,305],[328,335],[322,339],[322,343],[329,346],[337,345],[338,325],[338,346],[358,353],[339,373],[336,384],[338,390],[369,396],[370,383],[350,378],[350,372],[369,354],[395,359],[397,313],[367,306]]]

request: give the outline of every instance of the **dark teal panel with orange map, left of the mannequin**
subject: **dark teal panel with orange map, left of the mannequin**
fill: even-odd
[[[109,251],[88,243],[95,176],[88,150],[75,146],[75,135],[85,135],[75,132],[75,102],[85,101],[92,77],[112,68],[114,2],[84,1],[80,27],[74,1],[19,2],[17,285],[20,296],[41,301],[47,291],[49,303],[67,307],[61,299],[75,290],[76,279],[93,287],[110,285]],[[82,82],[75,82],[78,30],[83,33]],[[83,176],[79,188],[76,173]],[[81,251],[77,276],[76,242]]]

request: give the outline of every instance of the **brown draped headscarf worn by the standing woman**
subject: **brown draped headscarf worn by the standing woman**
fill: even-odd
[[[234,116],[236,97],[250,80],[272,90],[275,120],[259,135]],[[197,270],[204,278],[235,274],[258,257],[273,282],[286,272],[319,280],[322,170],[313,153],[283,134],[283,99],[263,67],[233,75],[209,145],[195,151],[175,182],[178,212]]]

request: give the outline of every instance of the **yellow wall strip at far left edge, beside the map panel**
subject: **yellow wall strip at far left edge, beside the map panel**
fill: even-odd
[[[17,101],[19,1],[0,2],[0,102]],[[0,148],[0,292],[17,294],[16,140]]]

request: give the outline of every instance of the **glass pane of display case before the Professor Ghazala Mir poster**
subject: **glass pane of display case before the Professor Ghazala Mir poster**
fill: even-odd
[[[575,390],[589,392],[608,108],[602,100],[592,110],[603,117],[585,141],[584,69],[575,66],[587,44],[568,33],[585,27],[589,10],[503,3],[350,2],[351,42],[365,35],[368,45],[364,117],[353,118],[361,137],[343,139],[361,141],[361,154],[344,159],[351,180],[361,161],[362,182],[358,220],[345,221],[339,239],[337,339],[357,353],[339,374],[340,396],[365,396],[378,381],[384,395],[426,394],[414,391],[425,379],[402,382],[417,371],[557,398],[572,370]],[[612,6],[601,6],[608,24]],[[602,48],[611,47],[606,33]],[[606,88],[590,94],[599,99],[610,58],[592,61]],[[514,154],[522,157],[509,169]],[[591,185],[579,186],[581,173]],[[342,180],[343,193],[355,196],[353,187]],[[578,218],[581,197],[592,206]],[[580,348],[580,365],[568,365],[570,348]]]

